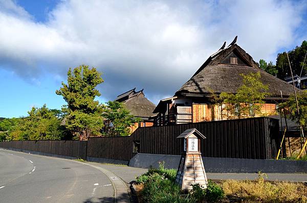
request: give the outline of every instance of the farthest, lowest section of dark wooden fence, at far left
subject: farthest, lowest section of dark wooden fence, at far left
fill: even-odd
[[[86,141],[78,140],[40,140],[0,142],[0,147],[37,151],[53,155],[75,157],[86,160]]]

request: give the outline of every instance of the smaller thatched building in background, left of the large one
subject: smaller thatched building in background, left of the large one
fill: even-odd
[[[115,99],[116,102],[123,102],[132,115],[142,119],[140,123],[135,123],[134,126],[131,126],[131,133],[139,127],[152,126],[153,120],[149,120],[149,117],[155,116],[152,112],[156,108],[156,105],[145,97],[144,89],[135,90],[136,88],[126,91]]]

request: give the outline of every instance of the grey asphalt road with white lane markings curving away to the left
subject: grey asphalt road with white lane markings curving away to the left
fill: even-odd
[[[89,165],[0,149],[0,202],[114,202],[114,189]]]

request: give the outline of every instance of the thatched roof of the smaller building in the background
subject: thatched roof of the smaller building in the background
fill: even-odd
[[[116,98],[116,101],[123,102],[126,108],[136,117],[149,118],[153,116],[156,105],[151,103],[144,95],[143,89],[136,92],[136,88],[129,90]]]

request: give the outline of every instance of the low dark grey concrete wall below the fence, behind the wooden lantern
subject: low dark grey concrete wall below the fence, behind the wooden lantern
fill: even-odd
[[[164,161],[165,168],[178,168],[179,155],[137,154],[129,166],[138,168],[158,167]],[[307,173],[307,161],[263,160],[203,157],[206,172],[214,173]]]

